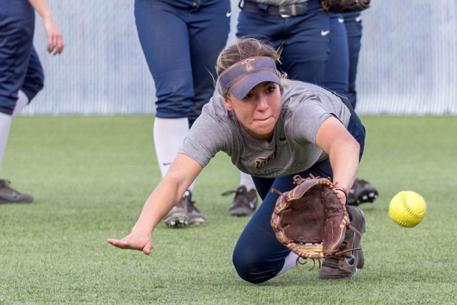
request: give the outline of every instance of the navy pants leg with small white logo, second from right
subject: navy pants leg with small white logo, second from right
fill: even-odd
[[[330,56],[322,86],[347,96],[349,86],[349,54],[346,27],[341,14],[330,14]]]

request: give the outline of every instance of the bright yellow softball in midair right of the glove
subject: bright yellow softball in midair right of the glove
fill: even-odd
[[[389,217],[403,227],[415,227],[426,214],[425,200],[413,191],[401,191],[390,200]]]

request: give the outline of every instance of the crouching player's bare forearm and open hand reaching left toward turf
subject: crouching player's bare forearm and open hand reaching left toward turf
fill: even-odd
[[[178,203],[202,169],[197,161],[178,154],[165,177],[146,200],[132,232],[120,240],[110,238],[107,241],[121,249],[140,250],[150,254],[153,247],[152,230]]]

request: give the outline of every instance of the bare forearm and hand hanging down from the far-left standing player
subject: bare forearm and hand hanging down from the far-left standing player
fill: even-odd
[[[64,46],[62,33],[55,23],[54,17],[52,17],[51,9],[46,0],[28,0],[28,2],[43,18],[46,36],[48,37],[48,52],[54,51],[54,55],[60,54]]]

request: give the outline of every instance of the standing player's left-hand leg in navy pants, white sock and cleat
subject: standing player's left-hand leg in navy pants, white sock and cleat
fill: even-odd
[[[163,175],[188,133],[193,87],[185,14],[172,5],[135,1],[135,20],[146,61],[155,82],[157,112],[154,145]],[[171,39],[173,37],[173,39]],[[183,200],[164,219],[168,225],[188,220]]]

